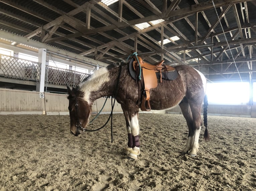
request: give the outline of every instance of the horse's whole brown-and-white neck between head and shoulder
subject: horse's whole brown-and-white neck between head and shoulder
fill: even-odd
[[[84,99],[92,104],[100,97],[113,95],[115,78],[116,74],[113,72],[92,75],[91,78],[80,84],[80,90],[84,92]]]

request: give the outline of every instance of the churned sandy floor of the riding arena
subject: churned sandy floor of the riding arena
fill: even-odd
[[[100,115],[89,128],[104,124]],[[123,154],[123,114],[97,132],[70,134],[69,116],[0,115],[0,191],[256,190],[256,119],[208,116],[211,140],[180,155],[182,115],[140,114],[141,155]]]

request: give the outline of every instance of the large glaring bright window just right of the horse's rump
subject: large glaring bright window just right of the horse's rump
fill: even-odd
[[[209,104],[246,105],[250,99],[248,82],[207,83]]]

